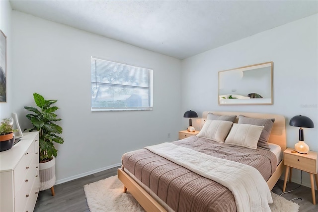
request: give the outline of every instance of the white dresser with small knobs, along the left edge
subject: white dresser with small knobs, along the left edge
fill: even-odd
[[[33,212],[40,187],[39,134],[0,152],[0,212]]]

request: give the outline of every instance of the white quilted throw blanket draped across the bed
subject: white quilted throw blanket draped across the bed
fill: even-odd
[[[270,190],[254,167],[216,158],[172,143],[145,147],[192,172],[226,186],[234,195],[238,212],[268,212]]]

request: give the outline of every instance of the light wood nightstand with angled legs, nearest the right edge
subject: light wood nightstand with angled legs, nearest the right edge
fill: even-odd
[[[293,153],[293,148],[287,148],[284,151],[284,165],[286,165],[285,172],[285,181],[283,192],[286,189],[287,177],[289,174],[289,182],[292,179],[293,168],[303,170],[310,174],[310,183],[312,185],[312,197],[313,204],[316,205],[316,197],[315,197],[315,184],[314,184],[314,176],[316,180],[316,186],[318,187],[318,179],[317,179],[317,152],[309,151],[307,154],[301,154],[298,152]]]

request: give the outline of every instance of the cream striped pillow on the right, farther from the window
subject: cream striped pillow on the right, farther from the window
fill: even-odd
[[[256,149],[264,126],[234,123],[225,143]]]

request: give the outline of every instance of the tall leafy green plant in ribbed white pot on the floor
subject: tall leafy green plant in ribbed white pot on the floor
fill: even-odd
[[[58,150],[54,147],[54,142],[64,143],[64,139],[59,136],[63,131],[62,127],[55,124],[56,121],[62,120],[57,118],[54,113],[59,107],[52,106],[57,100],[45,100],[41,95],[33,94],[36,106],[25,106],[24,108],[33,112],[26,117],[31,121],[33,128],[24,129],[39,132],[39,158],[40,158],[40,191],[51,188],[52,196],[55,184],[55,158]]]

